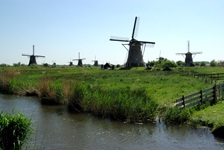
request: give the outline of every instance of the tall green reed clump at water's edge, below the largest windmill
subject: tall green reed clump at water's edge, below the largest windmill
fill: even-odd
[[[128,122],[146,122],[155,118],[158,104],[143,89],[105,89],[79,83],[73,90],[68,107],[75,111]]]

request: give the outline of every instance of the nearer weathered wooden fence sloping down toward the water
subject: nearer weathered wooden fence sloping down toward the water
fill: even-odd
[[[178,98],[176,100],[175,105],[177,107],[184,108],[202,105],[207,101],[211,104],[214,104],[222,99],[224,99],[224,82],[220,84],[215,84],[211,88],[200,90],[199,92],[187,96],[183,95],[181,98]]]

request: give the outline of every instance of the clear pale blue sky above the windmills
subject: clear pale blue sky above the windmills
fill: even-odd
[[[190,41],[194,61],[224,60],[223,0],[0,0],[0,64],[66,65],[80,53],[84,64],[124,64],[128,51],[111,36],[155,42],[145,62],[159,56],[184,61]],[[73,62],[77,64],[77,61]]]

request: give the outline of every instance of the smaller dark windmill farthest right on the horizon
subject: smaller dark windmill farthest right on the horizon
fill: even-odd
[[[191,53],[190,52],[190,41],[187,42],[187,48],[188,48],[188,52],[187,53],[176,53],[177,55],[185,55],[185,66],[194,66],[193,64],[193,58],[192,55],[196,55],[196,54],[202,54],[202,52],[194,52]]]

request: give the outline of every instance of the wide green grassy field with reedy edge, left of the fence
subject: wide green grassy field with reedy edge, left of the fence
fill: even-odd
[[[192,76],[205,69],[175,68],[165,72],[144,68],[5,67],[0,69],[0,92],[36,95],[44,104],[66,104],[73,111],[101,117],[149,121],[182,95],[211,87],[213,84]]]

